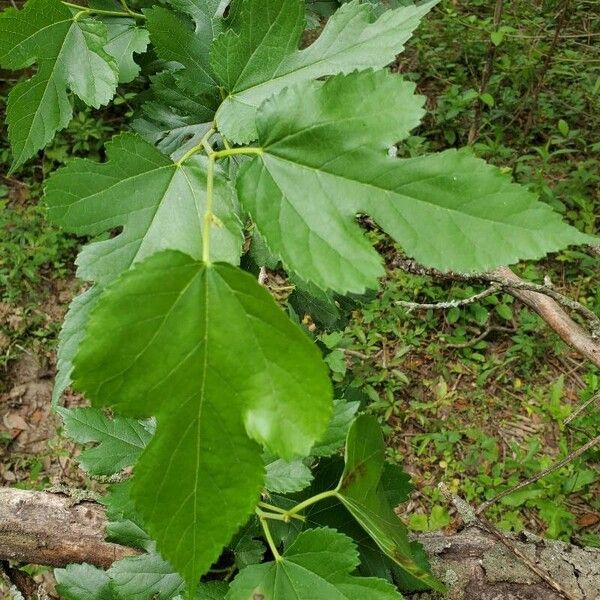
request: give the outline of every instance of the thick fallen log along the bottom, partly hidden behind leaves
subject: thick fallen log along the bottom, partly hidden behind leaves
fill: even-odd
[[[87,562],[109,567],[139,553],[104,540],[104,508],[73,504],[63,495],[0,488],[0,560],[54,567]],[[559,600],[497,538],[477,527],[444,536],[419,536],[434,571],[450,587],[449,600]],[[558,581],[569,597],[600,598],[600,550],[581,549],[527,535],[514,538],[540,569]],[[429,593],[416,598],[435,598]]]

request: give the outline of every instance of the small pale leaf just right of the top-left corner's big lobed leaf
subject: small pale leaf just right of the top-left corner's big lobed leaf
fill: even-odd
[[[137,27],[133,19],[103,19],[107,28],[106,52],[115,58],[119,68],[119,83],[129,83],[140,73],[133,55],[146,51],[150,43],[148,31]]]

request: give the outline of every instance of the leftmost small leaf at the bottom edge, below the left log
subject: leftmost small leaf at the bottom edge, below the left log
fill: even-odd
[[[92,565],[68,565],[54,569],[56,591],[64,600],[115,600],[110,577]]]

